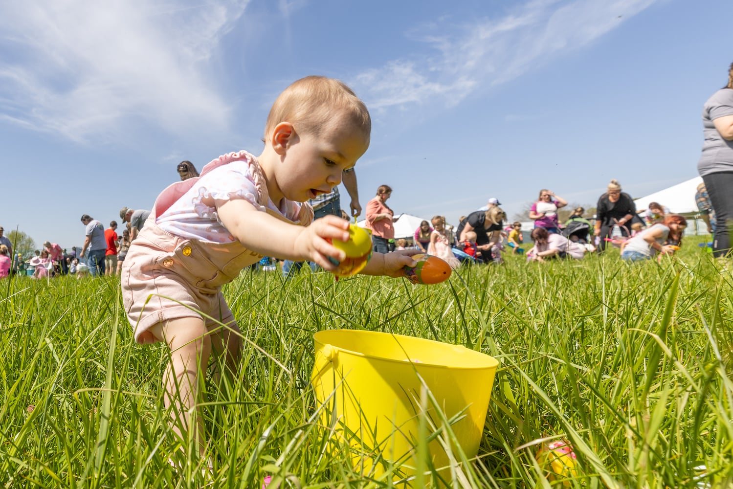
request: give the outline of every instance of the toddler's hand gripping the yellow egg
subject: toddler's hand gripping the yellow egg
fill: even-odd
[[[295,253],[319,265],[326,271],[336,271],[337,265],[328,260],[329,257],[341,262],[346,258],[344,251],[337,249],[326,238],[349,240],[348,221],[336,216],[325,216],[316,219],[295,240]]]

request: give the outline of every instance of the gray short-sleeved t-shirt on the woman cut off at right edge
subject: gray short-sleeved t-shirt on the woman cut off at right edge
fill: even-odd
[[[715,129],[713,120],[733,115],[733,89],[723,88],[707,99],[702,109],[705,141],[697,169],[701,177],[719,172],[733,172],[733,141],[726,141]]]

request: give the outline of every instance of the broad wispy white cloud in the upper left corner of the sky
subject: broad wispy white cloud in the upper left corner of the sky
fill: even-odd
[[[125,124],[224,129],[229,103],[207,62],[247,2],[4,2],[0,118],[75,141]]]

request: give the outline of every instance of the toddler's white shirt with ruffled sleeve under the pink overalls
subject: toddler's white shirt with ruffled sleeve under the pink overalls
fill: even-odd
[[[155,224],[172,235],[185,239],[209,241],[211,243],[232,243],[235,237],[224,224],[221,224],[216,207],[202,203],[202,199],[213,197],[216,200],[246,199],[258,210],[266,212],[257,202],[257,185],[247,161],[232,161],[204,174],[171,205]],[[268,199],[268,209],[298,222],[298,205],[283,199],[283,209],[279,209]]]

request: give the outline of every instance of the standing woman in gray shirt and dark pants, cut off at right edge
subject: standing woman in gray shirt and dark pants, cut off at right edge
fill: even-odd
[[[733,232],[733,63],[728,84],[705,102],[702,124],[705,141],[697,169],[715,209],[712,252],[717,258],[729,254]]]

